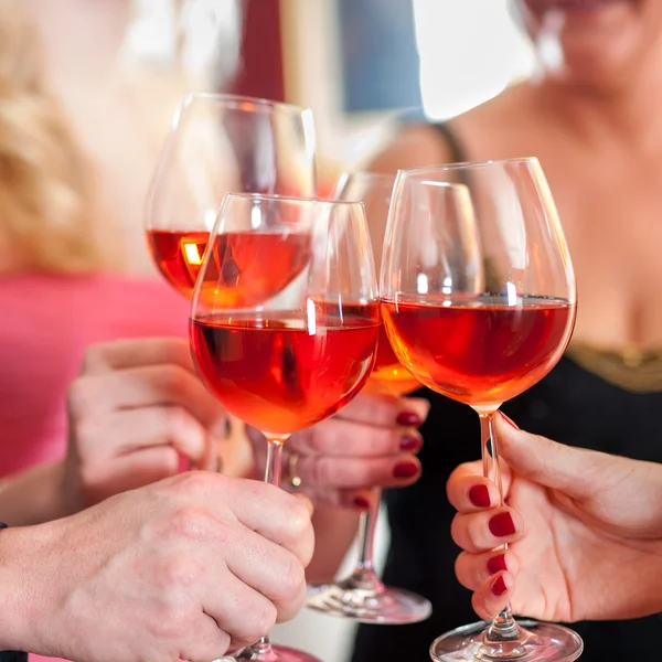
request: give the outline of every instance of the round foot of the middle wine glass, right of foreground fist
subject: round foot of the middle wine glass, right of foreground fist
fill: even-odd
[[[427,619],[433,611],[428,600],[408,590],[385,586],[378,591],[365,590],[352,586],[351,580],[311,586],[308,596],[309,609],[361,623],[417,623]]]

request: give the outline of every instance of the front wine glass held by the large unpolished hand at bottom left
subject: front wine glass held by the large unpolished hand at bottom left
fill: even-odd
[[[365,384],[380,325],[361,203],[225,196],[193,293],[191,350],[210,392],[265,434],[265,481],[278,485],[292,433]],[[268,639],[239,658],[311,660]]]

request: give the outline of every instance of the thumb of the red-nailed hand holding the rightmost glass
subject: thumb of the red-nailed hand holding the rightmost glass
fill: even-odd
[[[495,417],[499,450],[512,471],[573,499],[589,499],[606,488],[608,477],[622,473],[623,458],[565,446],[519,429]]]

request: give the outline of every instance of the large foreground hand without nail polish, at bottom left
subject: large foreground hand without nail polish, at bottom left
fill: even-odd
[[[312,506],[193,471],[0,535],[2,650],[79,662],[214,660],[292,618]]]

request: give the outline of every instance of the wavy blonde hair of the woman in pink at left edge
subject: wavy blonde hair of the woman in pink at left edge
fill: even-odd
[[[0,0],[0,273],[103,267],[81,152],[21,0]]]

